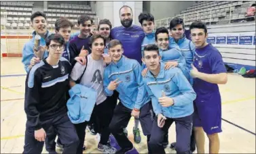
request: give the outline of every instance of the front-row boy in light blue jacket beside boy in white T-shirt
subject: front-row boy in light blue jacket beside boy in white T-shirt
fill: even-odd
[[[126,153],[133,148],[132,143],[123,132],[131,116],[138,118],[143,128],[143,134],[150,138],[153,114],[151,101],[146,93],[141,76],[141,65],[134,59],[123,56],[124,49],[118,40],[109,43],[109,55],[112,63],[104,72],[105,93],[108,96],[117,91],[120,103],[115,107],[113,119],[109,128],[121,149],[117,153]]]

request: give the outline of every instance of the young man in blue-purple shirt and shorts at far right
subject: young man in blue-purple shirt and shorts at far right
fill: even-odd
[[[194,65],[191,65],[194,101],[194,131],[198,153],[204,153],[204,132],[209,138],[209,153],[219,153],[221,130],[221,95],[218,84],[227,83],[227,71],[221,54],[206,43],[207,28],[204,22],[193,22],[189,30],[196,46]]]

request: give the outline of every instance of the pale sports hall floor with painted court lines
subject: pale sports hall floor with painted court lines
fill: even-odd
[[[22,153],[26,115],[24,113],[24,82],[26,76],[20,57],[1,58],[1,153]],[[255,78],[243,78],[228,74],[228,82],[220,85],[222,97],[222,129],[219,134],[220,153],[255,153]],[[132,127],[128,125],[128,137],[133,142]],[[87,130],[88,131],[88,130]],[[142,132],[141,132],[142,134]],[[169,129],[169,143],[175,141],[175,124]],[[206,137],[206,136],[205,136]],[[96,136],[86,134],[86,151],[97,150]],[[134,143],[139,153],[147,153],[146,137],[140,144]],[[208,153],[208,140],[205,144]],[[43,153],[46,153],[45,150]],[[166,149],[166,153],[175,151]]]

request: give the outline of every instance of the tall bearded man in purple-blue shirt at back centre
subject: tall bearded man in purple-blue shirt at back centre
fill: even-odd
[[[121,41],[124,49],[123,55],[130,59],[136,59],[141,63],[141,43],[143,42],[145,33],[140,26],[132,24],[132,8],[124,5],[120,8],[119,13],[122,26],[115,27],[111,30],[111,38]],[[135,143],[141,143],[139,120],[136,119],[133,134]]]

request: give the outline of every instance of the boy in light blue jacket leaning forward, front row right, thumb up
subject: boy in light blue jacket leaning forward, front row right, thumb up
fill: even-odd
[[[179,68],[165,70],[160,62],[157,45],[147,45],[143,61],[149,71],[143,77],[151,97],[156,118],[153,121],[149,149],[152,153],[165,153],[162,142],[170,125],[176,126],[177,153],[190,153],[189,143],[192,130],[193,101],[196,93]]]

